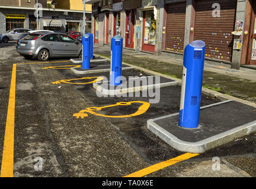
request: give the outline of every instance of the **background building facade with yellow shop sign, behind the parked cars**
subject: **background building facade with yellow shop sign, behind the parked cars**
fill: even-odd
[[[83,30],[83,6],[76,6],[77,0],[57,1],[38,0],[40,30],[59,32]],[[66,4],[63,4],[66,2]],[[81,2],[81,1],[79,1]],[[82,3],[81,3],[82,4]],[[13,28],[37,29],[36,0],[0,1],[0,32]],[[72,8],[72,9],[71,9]],[[86,9],[87,32],[91,32],[91,5]]]

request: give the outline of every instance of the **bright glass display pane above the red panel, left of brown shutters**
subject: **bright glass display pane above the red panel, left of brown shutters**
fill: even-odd
[[[145,11],[144,44],[155,45],[156,20],[153,11]]]

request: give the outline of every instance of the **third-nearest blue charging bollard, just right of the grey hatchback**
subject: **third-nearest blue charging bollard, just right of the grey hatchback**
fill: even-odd
[[[90,69],[90,58],[89,58],[89,50],[90,50],[90,36],[89,34],[85,34],[82,37],[82,69]]]

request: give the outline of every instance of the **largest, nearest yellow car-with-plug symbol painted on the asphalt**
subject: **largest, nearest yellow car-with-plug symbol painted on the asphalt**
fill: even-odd
[[[137,110],[137,112],[129,114],[129,115],[123,115],[123,116],[110,116],[110,115],[103,115],[100,113],[97,113],[95,111],[100,111],[106,107],[114,107],[114,106],[129,106],[132,105],[132,103],[141,103],[142,105],[139,107],[139,109]],[[143,113],[145,113],[148,109],[149,109],[150,103],[148,102],[143,102],[143,101],[132,101],[132,102],[117,102],[115,105],[108,105],[108,106],[101,106],[101,107],[87,107],[87,109],[85,110],[81,110],[78,113],[74,113],[73,116],[76,118],[84,118],[84,117],[88,117],[88,113],[91,113],[93,115],[96,116],[102,116],[102,117],[107,117],[107,118],[129,118],[132,116],[138,116],[138,115],[142,115]],[[87,113],[85,113],[87,112]]]

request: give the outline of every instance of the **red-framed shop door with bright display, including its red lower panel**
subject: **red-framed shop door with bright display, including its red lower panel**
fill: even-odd
[[[149,11],[143,11],[143,51],[155,53],[155,31],[156,20],[154,17],[153,9]]]

